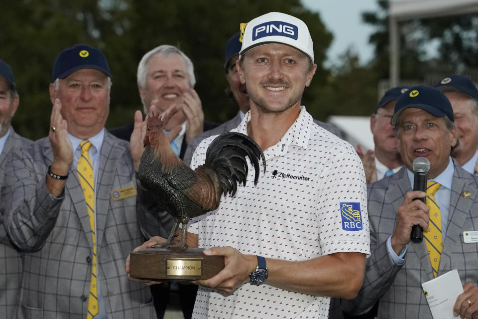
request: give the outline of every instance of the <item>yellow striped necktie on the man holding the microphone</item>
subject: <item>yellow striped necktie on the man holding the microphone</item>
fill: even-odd
[[[440,256],[443,250],[442,240],[442,216],[440,207],[435,200],[435,194],[441,185],[434,181],[427,183],[427,206],[430,207],[430,218],[428,221],[428,230],[423,233],[425,243],[428,249],[428,257],[433,269],[433,277],[437,277]]]

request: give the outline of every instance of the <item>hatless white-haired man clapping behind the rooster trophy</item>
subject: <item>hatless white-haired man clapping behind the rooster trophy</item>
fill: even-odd
[[[165,129],[171,147],[181,159],[192,138],[217,126],[204,121],[201,100],[194,90],[193,63],[177,47],[163,44],[144,54],[138,65],[137,83],[145,115],[153,104],[159,113],[175,108]],[[133,124],[110,130],[126,141],[132,131]]]

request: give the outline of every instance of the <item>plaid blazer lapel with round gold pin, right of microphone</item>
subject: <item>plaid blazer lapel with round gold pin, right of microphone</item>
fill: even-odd
[[[463,232],[465,220],[470,214],[472,204],[477,196],[478,189],[475,180],[469,172],[455,164],[455,173],[450,195],[450,210],[448,212],[447,233],[443,245],[438,275],[451,268],[450,256],[456,245],[460,245],[460,233]]]

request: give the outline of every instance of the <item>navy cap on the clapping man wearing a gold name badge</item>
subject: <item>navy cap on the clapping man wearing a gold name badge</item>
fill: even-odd
[[[64,79],[80,69],[97,69],[112,77],[108,61],[100,49],[86,44],[76,44],[58,54],[53,64],[51,81]]]

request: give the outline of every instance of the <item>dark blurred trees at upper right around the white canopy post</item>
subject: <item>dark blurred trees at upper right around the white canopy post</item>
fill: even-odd
[[[377,0],[376,12],[362,13],[363,22],[375,27],[369,38],[375,47],[371,67],[380,78],[388,78],[389,3]],[[400,21],[401,78],[421,80],[478,67],[477,30],[476,13]],[[433,58],[426,54],[432,43],[438,43],[438,54]]]

